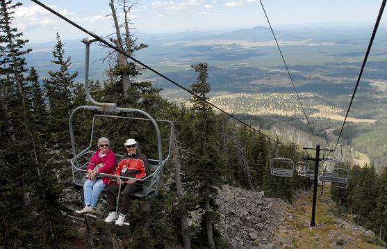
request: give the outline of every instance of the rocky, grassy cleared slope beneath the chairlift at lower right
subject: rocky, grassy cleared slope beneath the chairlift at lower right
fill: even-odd
[[[318,191],[316,227],[309,226],[311,191],[298,192],[290,204],[263,192],[223,186],[217,202],[218,228],[230,248],[385,248],[373,232],[332,213],[329,188],[322,195]]]

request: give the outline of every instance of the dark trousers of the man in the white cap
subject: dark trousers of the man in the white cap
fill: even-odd
[[[106,188],[106,198],[108,199],[108,209],[109,211],[115,211],[117,205],[117,195],[120,185],[113,183]],[[122,192],[122,205],[121,205],[121,214],[126,214],[131,207],[132,196],[135,191],[142,189],[142,185],[135,184],[123,184],[121,186]]]

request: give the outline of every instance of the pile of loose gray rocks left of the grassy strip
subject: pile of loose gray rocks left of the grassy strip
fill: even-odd
[[[221,214],[217,228],[229,239],[230,248],[278,248],[271,241],[283,211],[272,198],[265,198],[263,191],[224,186],[219,190],[217,204]]]

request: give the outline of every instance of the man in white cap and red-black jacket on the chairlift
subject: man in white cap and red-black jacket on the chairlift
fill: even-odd
[[[115,170],[115,175],[120,175],[123,177],[131,177],[135,179],[142,179],[147,177],[149,174],[149,163],[147,156],[137,151],[137,142],[131,138],[126,140],[124,143],[126,154],[124,154],[120,163],[118,163],[117,169]],[[108,199],[108,209],[109,215],[106,217],[105,222],[111,223],[113,220],[116,225],[122,226],[124,224],[124,220],[126,214],[129,211],[129,207],[131,206],[132,195],[135,191],[139,191],[142,189],[143,182],[137,181],[135,179],[120,179],[117,177],[117,182],[113,182],[106,188],[106,198]],[[117,215],[115,211],[115,207],[117,204],[117,195],[118,190],[120,188],[119,184],[123,184],[122,186],[122,206],[120,209],[120,216]]]

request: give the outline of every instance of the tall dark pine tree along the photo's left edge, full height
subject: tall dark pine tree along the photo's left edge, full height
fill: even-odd
[[[12,26],[14,10],[20,5],[0,1],[0,136],[9,142],[0,150],[0,230],[4,248],[27,244],[26,231],[31,227],[25,222],[31,211],[29,177],[35,169],[29,147],[32,138],[23,57],[31,49],[24,49],[28,40],[23,40],[22,33]]]

